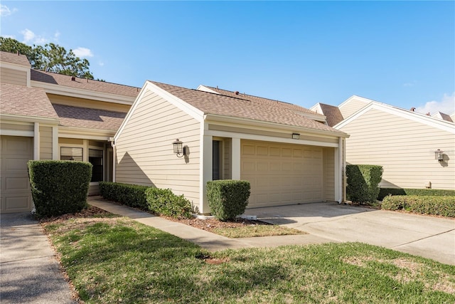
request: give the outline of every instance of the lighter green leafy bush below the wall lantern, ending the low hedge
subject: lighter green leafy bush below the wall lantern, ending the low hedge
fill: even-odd
[[[191,201],[183,194],[173,194],[171,189],[149,188],[146,190],[146,201],[154,214],[191,218]]]

